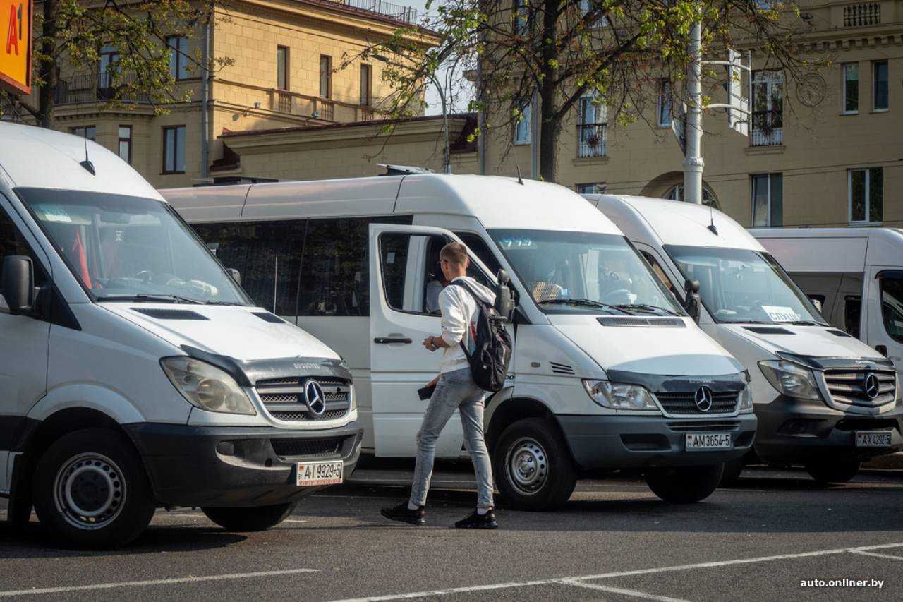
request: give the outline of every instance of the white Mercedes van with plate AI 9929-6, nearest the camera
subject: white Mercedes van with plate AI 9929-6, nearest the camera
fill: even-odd
[[[160,506],[234,531],[340,483],[361,429],[348,367],[257,307],[119,157],[0,123],[0,494],[74,547]]]

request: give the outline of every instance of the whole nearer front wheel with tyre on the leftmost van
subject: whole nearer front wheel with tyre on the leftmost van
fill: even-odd
[[[134,540],[154,516],[154,494],[131,442],[109,428],[60,437],[34,473],[34,511],[51,537],[80,550]]]

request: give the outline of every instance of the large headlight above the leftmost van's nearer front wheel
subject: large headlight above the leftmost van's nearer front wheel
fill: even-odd
[[[256,414],[251,400],[228,372],[191,357],[160,361],[172,385],[192,406],[225,414]]]

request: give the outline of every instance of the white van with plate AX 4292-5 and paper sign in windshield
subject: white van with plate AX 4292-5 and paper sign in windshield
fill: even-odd
[[[588,195],[678,297],[699,282],[699,324],[752,376],[754,456],[803,465],[815,480],[852,479],[861,461],[903,447],[897,372],[827,324],[778,262],[736,221],[709,207]],[[743,462],[725,469],[725,482]]]

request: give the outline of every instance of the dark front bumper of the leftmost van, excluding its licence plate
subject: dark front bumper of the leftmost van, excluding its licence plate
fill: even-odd
[[[342,460],[348,478],[360,457],[357,422],[322,430],[124,425],[160,505],[251,507],[299,500],[323,486],[294,484],[298,462]]]

